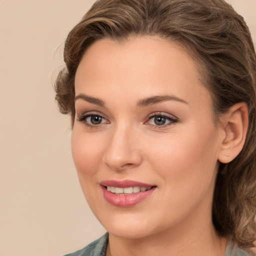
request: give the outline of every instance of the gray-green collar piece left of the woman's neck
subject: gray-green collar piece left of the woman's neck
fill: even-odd
[[[64,256],[105,256],[108,243],[108,233],[105,233],[97,240],[89,243],[86,247]]]

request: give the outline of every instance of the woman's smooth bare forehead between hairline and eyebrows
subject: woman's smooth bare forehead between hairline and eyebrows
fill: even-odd
[[[124,101],[169,93],[186,101],[207,94],[210,100],[187,51],[157,36],[134,36],[122,42],[104,38],[86,50],[75,75],[76,94],[101,98],[109,91],[109,98],[118,94]]]

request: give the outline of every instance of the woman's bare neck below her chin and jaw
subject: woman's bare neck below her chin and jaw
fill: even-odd
[[[201,221],[202,218],[204,221]],[[211,217],[205,221],[205,215],[195,214],[187,219],[170,229],[143,238],[132,239],[109,234],[106,256],[224,256],[227,238],[218,236]]]

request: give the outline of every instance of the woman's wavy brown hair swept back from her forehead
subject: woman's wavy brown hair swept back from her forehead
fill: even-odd
[[[255,240],[256,224],[256,56],[243,18],[224,0],[98,0],[69,32],[66,68],[59,72],[56,100],[74,121],[74,76],[85,50],[104,37],[158,35],[177,42],[198,63],[211,91],[215,118],[237,102],[248,106],[244,147],[220,164],[212,221],[220,235],[232,235],[242,248]]]

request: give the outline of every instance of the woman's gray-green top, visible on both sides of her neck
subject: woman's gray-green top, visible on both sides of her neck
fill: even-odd
[[[106,246],[108,243],[108,233],[97,240],[91,242],[86,247],[64,256],[105,256]],[[224,256],[249,256],[250,254],[237,246],[231,241],[228,242]]]

